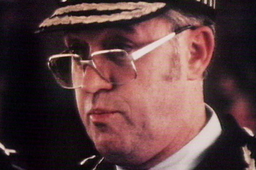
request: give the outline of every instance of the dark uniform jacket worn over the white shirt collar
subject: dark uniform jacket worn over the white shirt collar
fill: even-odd
[[[218,115],[222,133],[216,142],[204,153],[194,170],[256,170],[256,139],[240,128],[231,115]],[[100,158],[88,160],[85,170],[115,170],[115,165]],[[96,166],[96,167],[95,167]]]

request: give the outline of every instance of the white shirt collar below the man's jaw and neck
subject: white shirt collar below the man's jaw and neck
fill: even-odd
[[[209,122],[202,131],[178,152],[149,170],[192,170],[202,159],[204,151],[220,136],[221,125],[214,110],[205,104]],[[117,166],[117,170],[124,170]]]

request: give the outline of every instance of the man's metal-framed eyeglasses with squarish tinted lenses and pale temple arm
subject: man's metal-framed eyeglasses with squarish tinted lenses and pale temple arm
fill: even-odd
[[[122,49],[110,49],[97,51],[89,56],[62,53],[49,57],[48,67],[52,71],[57,82],[66,89],[82,87],[87,68],[91,67],[98,75],[112,84],[126,84],[136,79],[137,71],[134,61],[143,55],[153,51],[163,43],[171,40],[178,33],[187,29],[196,29],[195,26],[185,26],[148,44],[141,49],[128,54]],[[83,58],[90,58],[83,60]]]

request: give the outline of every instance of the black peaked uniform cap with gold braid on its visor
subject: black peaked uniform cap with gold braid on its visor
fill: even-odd
[[[59,0],[58,4],[37,32],[134,24],[168,9],[215,20],[215,0]]]

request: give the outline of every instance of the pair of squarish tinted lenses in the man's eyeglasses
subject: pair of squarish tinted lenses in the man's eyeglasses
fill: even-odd
[[[111,51],[96,53],[91,60],[82,60],[81,57],[67,55],[49,60],[49,68],[52,70],[58,83],[66,88],[82,87],[84,76],[89,76],[94,70],[104,80],[113,84],[125,84],[136,78],[136,69],[133,60],[125,51]]]

